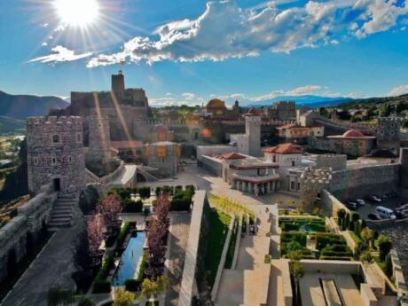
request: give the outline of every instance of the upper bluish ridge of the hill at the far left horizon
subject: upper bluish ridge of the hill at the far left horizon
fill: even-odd
[[[10,95],[0,90],[0,116],[26,119],[29,116],[43,116],[52,108],[66,108],[69,103],[58,97],[32,95]]]

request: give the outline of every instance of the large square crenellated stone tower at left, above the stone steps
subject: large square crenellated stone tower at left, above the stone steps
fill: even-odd
[[[62,193],[82,190],[85,153],[81,117],[29,117],[27,171],[30,192],[39,192],[43,184],[50,183]]]

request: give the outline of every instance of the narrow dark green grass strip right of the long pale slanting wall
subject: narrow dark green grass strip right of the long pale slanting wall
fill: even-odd
[[[211,210],[209,217],[208,250],[205,262],[205,270],[209,271],[207,279],[208,285],[211,287],[216,280],[216,271],[218,270],[218,264],[220,263],[221,254],[223,253],[224,242],[230,222],[231,216],[217,210]]]

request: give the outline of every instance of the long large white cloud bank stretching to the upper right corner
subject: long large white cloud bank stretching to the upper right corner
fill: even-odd
[[[277,5],[271,1],[245,10],[234,0],[208,2],[196,20],[170,21],[156,28],[153,35],[157,38],[134,37],[124,43],[122,51],[99,54],[87,67],[142,60],[149,64],[217,61],[256,56],[262,51],[290,52],[339,43],[347,32],[364,37],[386,31],[408,13],[407,5],[398,5],[396,0],[309,1],[285,10]]]

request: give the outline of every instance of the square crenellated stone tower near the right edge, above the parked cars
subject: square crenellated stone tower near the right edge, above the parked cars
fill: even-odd
[[[401,146],[399,129],[401,121],[396,117],[379,117],[377,129],[377,147],[398,155]]]

